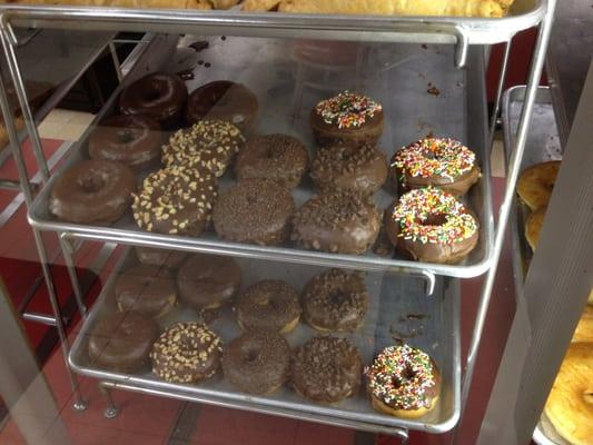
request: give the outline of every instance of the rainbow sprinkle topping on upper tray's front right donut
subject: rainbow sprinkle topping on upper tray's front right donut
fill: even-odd
[[[442,216],[441,225],[423,225],[429,217]],[[422,244],[453,244],[477,231],[477,221],[453,195],[427,187],[408,191],[399,198],[392,217],[399,224],[398,237]]]

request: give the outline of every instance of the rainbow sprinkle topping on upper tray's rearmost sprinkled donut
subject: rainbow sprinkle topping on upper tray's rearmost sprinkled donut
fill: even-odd
[[[373,99],[349,91],[322,100],[315,107],[315,111],[326,123],[337,123],[340,129],[360,127],[367,118],[373,118],[380,110],[383,107]]]

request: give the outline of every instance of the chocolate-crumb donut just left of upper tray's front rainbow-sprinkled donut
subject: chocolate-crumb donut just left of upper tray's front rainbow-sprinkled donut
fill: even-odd
[[[332,191],[296,211],[290,238],[307,249],[356,255],[373,246],[379,227],[380,216],[369,197]]]

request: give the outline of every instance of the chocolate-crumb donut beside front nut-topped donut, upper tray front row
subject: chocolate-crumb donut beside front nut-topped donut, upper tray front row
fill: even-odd
[[[228,241],[275,246],[288,236],[295,211],[290,191],[269,179],[246,179],[220,195],[214,228]]]

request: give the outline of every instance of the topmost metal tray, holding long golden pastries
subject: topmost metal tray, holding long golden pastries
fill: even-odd
[[[320,1],[320,0],[319,0]],[[376,0],[378,1],[378,0]],[[457,0],[452,0],[453,2]],[[491,44],[508,41],[518,31],[540,23],[547,0],[515,0],[505,18],[387,17],[246,12],[241,6],[225,11],[197,9],[121,9],[89,7],[0,6],[19,27],[226,34],[302,37],[330,40],[418,43]]]

